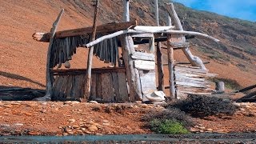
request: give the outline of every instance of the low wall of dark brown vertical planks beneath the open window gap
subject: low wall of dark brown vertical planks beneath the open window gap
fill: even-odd
[[[79,100],[84,95],[86,70],[54,70],[53,100]],[[126,102],[129,94],[124,68],[93,69],[90,100]]]

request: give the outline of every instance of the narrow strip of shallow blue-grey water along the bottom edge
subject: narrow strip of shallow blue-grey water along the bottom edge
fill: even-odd
[[[63,142],[256,142],[254,134],[129,134],[85,136],[2,136],[0,143],[63,143]]]

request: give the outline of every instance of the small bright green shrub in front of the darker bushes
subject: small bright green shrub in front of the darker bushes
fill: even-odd
[[[159,120],[154,119],[150,121],[150,128],[159,134],[189,134],[190,131],[182,125],[181,122],[174,120]]]

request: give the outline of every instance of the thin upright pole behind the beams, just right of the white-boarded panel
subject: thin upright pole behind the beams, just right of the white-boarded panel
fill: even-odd
[[[159,26],[159,14],[158,14],[158,0],[154,0],[154,15],[155,23]],[[157,55],[157,66],[158,66],[158,90],[164,90],[164,80],[163,80],[163,65],[162,65],[162,53],[161,53],[161,43],[157,42],[156,47]]]

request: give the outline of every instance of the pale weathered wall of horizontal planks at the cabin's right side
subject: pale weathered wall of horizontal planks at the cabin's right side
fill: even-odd
[[[186,98],[188,94],[207,95],[212,93],[210,83],[206,78],[213,78],[216,74],[208,73],[194,66],[174,66],[174,79],[177,98]]]

